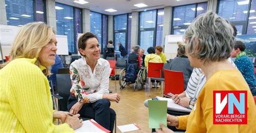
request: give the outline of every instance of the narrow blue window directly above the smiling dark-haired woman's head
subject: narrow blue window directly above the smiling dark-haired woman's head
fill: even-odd
[[[107,16],[98,12],[90,12],[91,33],[95,34],[99,40],[99,46],[103,49],[107,45]]]

